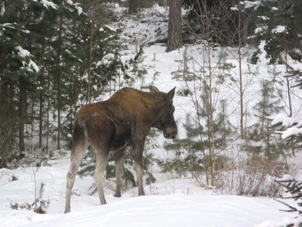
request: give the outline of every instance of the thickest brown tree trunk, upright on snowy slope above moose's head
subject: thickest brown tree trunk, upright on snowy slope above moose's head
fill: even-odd
[[[168,42],[166,52],[182,47],[182,1],[169,1]]]

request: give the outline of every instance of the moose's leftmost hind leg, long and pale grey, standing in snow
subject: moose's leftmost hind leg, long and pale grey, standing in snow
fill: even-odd
[[[83,159],[83,156],[88,149],[88,142],[79,141],[78,143],[74,143],[72,145],[71,156],[70,156],[70,167],[67,172],[67,185],[66,185],[66,202],[65,202],[65,212],[70,212],[70,197],[71,197],[71,189],[75,182],[76,174],[78,172],[79,166]]]

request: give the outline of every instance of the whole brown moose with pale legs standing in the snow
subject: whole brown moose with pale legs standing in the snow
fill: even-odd
[[[173,97],[175,87],[168,93],[154,86],[150,92],[129,87],[118,90],[108,100],[87,104],[76,114],[72,132],[71,163],[67,173],[65,213],[70,212],[71,189],[86,150],[95,153],[96,165],[93,179],[101,204],[106,204],[103,176],[110,151],[114,152],[116,166],[115,197],[120,197],[124,173],[124,150],[132,145],[138,195],[143,189],[142,157],[146,136],[151,127],[163,131],[167,139],[175,139],[177,125],[174,120]]]

